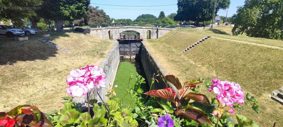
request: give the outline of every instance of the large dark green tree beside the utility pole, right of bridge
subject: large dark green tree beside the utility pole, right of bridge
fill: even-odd
[[[178,11],[175,21],[196,21],[199,22],[211,20],[214,11],[215,0],[178,0]],[[187,3],[187,4],[185,4]],[[230,0],[217,0],[215,14],[219,9],[227,9],[230,6]]]

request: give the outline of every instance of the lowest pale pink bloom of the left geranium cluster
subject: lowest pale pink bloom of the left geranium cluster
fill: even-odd
[[[67,88],[67,93],[73,97],[81,97],[88,92],[87,84],[83,80],[76,80],[70,82],[70,86]]]

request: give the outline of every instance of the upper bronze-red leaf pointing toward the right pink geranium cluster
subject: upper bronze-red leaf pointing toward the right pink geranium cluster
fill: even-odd
[[[181,98],[181,99],[184,99],[184,98],[190,98],[190,99],[192,99],[196,102],[199,102],[201,104],[210,105],[208,98],[205,95],[200,94],[200,93],[190,92],[190,93],[184,95],[183,98]]]

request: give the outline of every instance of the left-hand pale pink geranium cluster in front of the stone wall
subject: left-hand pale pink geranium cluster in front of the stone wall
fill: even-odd
[[[67,93],[73,97],[80,97],[95,87],[105,87],[106,76],[102,68],[87,65],[81,69],[73,69],[66,82],[69,85]]]

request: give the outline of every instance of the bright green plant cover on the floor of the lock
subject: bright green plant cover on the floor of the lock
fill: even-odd
[[[132,98],[132,95],[127,92],[127,89],[128,85],[130,89],[130,87],[135,84],[136,73],[137,71],[134,64],[130,62],[120,62],[114,80],[114,85],[118,85],[118,87],[115,89],[115,92],[117,94],[115,98],[119,98],[119,100],[123,101],[123,104],[125,104],[126,106],[130,106],[130,108],[134,108],[136,106],[136,97]],[[133,75],[134,78],[131,79],[129,82],[130,75]]]

